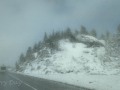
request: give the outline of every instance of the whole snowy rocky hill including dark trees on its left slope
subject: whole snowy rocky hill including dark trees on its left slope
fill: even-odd
[[[68,29],[50,36],[45,33],[42,42],[29,47],[26,56],[21,55],[16,70],[33,74],[119,73],[118,61],[110,61],[109,57],[105,40]]]

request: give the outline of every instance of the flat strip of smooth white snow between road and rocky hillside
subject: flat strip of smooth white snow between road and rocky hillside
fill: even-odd
[[[49,79],[53,81],[72,84],[75,86],[86,87],[95,90],[119,90],[120,75],[90,75],[80,74],[27,74],[34,77]]]

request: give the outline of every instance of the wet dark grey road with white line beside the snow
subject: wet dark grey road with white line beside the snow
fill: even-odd
[[[0,90],[90,90],[36,77],[0,72]]]

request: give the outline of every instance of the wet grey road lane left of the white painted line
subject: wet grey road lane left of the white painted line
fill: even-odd
[[[0,90],[33,90],[21,81],[12,78],[8,72],[0,72]]]

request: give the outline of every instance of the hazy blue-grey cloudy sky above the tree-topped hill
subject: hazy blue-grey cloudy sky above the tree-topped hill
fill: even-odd
[[[0,65],[13,65],[44,32],[95,28],[114,31],[120,0],[0,0]]]

